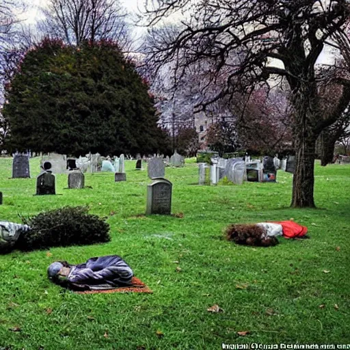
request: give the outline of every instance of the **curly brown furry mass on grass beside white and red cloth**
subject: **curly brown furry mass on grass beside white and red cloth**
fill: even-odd
[[[270,247],[278,244],[275,237],[265,237],[262,227],[254,224],[230,225],[226,228],[226,239],[236,244]]]

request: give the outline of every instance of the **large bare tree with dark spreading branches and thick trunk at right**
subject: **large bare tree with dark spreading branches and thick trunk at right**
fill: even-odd
[[[182,27],[175,38],[158,42],[152,49],[152,62],[158,67],[176,62],[176,83],[190,67],[205,61],[208,77],[220,91],[201,103],[202,107],[233,96],[237,90],[250,91],[271,77],[286,79],[296,150],[291,205],[314,207],[316,139],[338,119],[350,99],[350,79],[337,73],[328,77],[343,88],[333,113],[323,118],[319,100],[323,76],[317,70],[317,59],[327,41],[345,26],[349,18],[347,0],[146,2],[149,25],[174,12],[188,14],[181,17]]]

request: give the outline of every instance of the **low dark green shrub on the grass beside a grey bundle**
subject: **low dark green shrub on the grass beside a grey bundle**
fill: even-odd
[[[87,211],[86,206],[65,206],[24,219],[31,230],[21,234],[16,248],[34,250],[110,241],[109,224]]]

